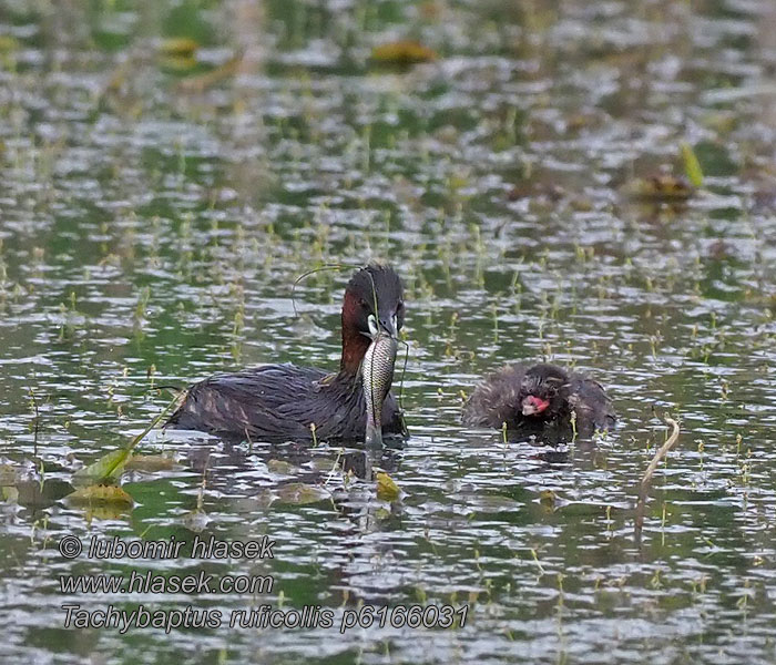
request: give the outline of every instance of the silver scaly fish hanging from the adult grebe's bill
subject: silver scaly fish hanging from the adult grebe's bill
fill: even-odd
[[[390,335],[378,334],[364,354],[361,385],[367,402],[367,446],[382,444],[382,403],[394,381],[398,342]]]

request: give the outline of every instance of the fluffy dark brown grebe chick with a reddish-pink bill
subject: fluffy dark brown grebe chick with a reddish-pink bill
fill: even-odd
[[[568,429],[588,437],[614,422],[612,400],[601,383],[547,362],[504,367],[480,383],[463,407],[467,426],[502,429],[506,423],[525,436]]]

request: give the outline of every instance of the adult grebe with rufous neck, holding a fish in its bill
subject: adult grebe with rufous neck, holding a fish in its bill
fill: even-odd
[[[369,264],[345,288],[339,371],[286,362],[215,375],[188,388],[166,427],[252,441],[356,441],[369,433],[367,443],[380,443],[384,434],[404,437],[390,392],[404,323],[399,276],[390,266]]]

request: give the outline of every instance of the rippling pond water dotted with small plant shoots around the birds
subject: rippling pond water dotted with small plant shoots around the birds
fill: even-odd
[[[776,661],[776,4],[145,4],[0,2],[4,658]],[[370,61],[402,39],[437,58]],[[623,195],[682,175],[685,142],[700,192]],[[344,284],[372,258],[407,287],[404,449],[155,431],[139,451],[175,464],[124,474],[134,508],[63,500],[165,408],[157,386],[335,368]],[[294,280],[324,264],[343,269],[302,282],[296,316]],[[480,377],[542,358],[603,382],[616,430],[553,451],[460,426]],[[665,415],[682,434],[639,541]],[[274,559],[58,551],[195,533],[267,535]],[[61,592],[60,575],[133,570],[274,585]],[[336,625],[359,603],[469,608],[451,630],[122,634],[63,628],[68,603],[319,605]]]

